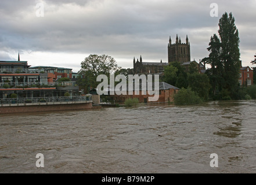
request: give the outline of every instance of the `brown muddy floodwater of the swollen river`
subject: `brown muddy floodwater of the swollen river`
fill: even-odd
[[[5,114],[0,173],[255,173],[255,112],[232,101]]]

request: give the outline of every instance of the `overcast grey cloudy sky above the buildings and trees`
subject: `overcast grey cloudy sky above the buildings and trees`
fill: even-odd
[[[210,16],[211,3],[217,3],[218,17]],[[89,54],[106,54],[122,68],[133,68],[134,57],[140,55],[145,62],[168,62],[169,36],[174,42],[178,34],[182,42],[188,35],[191,60],[199,61],[209,54],[219,18],[232,12],[240,60],[243,66],[253,66],[255,8],[256,0],[1,0],[0,60],[17,60],[20,53],[20,60],[31,66],[78,72]]]

